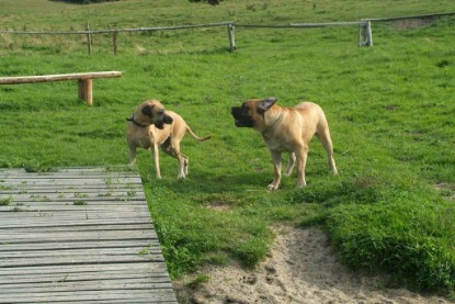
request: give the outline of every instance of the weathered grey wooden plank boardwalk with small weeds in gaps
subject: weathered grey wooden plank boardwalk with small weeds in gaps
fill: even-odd
[[[0,303],[177,303],[138,173],[0,169]]]

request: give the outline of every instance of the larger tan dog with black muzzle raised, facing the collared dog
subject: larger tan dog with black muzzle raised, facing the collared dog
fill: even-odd
[[[319,137],[327,150],[329,167],[338,174],[333,159],[333,146],[329,125],[322,109],[312,102],[302,102],[295,108],[276,105],[276,98],[250,99],[241,106],[232,106],[231,114],[238,127],[253,127],[261,133],[270,153],[275,178],[269,184],[270,190],[281,185],[281,166],[283,151],[289,153],[289,162],[285,174],[289,176],[297,162],[297,185],[306,185],[305,166],[308,155],[308,143],[314,135]]]

